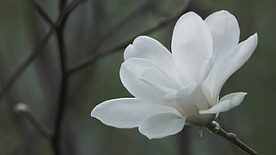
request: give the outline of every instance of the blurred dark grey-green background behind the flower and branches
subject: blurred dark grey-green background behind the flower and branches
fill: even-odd
[[[58,19],[58,1],[35,2],[53,22]],[[238,19],[240,41],[257,32],[259,42],[249,61],[223,86],[222,95],[244,91],[248,92],[247,97],[238,108],[221,113],[218,122],[260,154],[274,154],[275,5],[273,0],[86,0],[78,4],[64,24],[65,60],[68,69],[86,60],[90,62],[67,78],[60,126],[61,154],[246,154],[206,129],[201,138],[198,127],[185,126],[177,135],[148,140],[136,128],[117,129],[90,118],[91,110],[100,102],[131,96],[122,86],[118,70],[124,48],[134,37],[148,35],[170,49],[175,14],[194,11],[206,18],[220,10],[227,10]],[[50,27],[32,1],[0,0],[0,88],[42,42]],[[155,29],[148,31],[151,28]],[[52,141],[13,110],[16,103],[24,102],[45,127],[50,131],[55,128],[64,80],[57,35],[53,33],[37,51],[28,68],[1,94],[0,155],[54,154]],[[108,53],[91,59],[102,52]]]

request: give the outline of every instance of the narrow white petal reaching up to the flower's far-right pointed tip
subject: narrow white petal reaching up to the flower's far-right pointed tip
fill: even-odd
[[[257,45],[257,34],[248,37],[229,53],[224,59],[216,61],[213,69],[204,82],[204,89],[211,94],[211,100],[216,103],[218,95],[225,81],[237,71],[251,54],[255,51]]]

